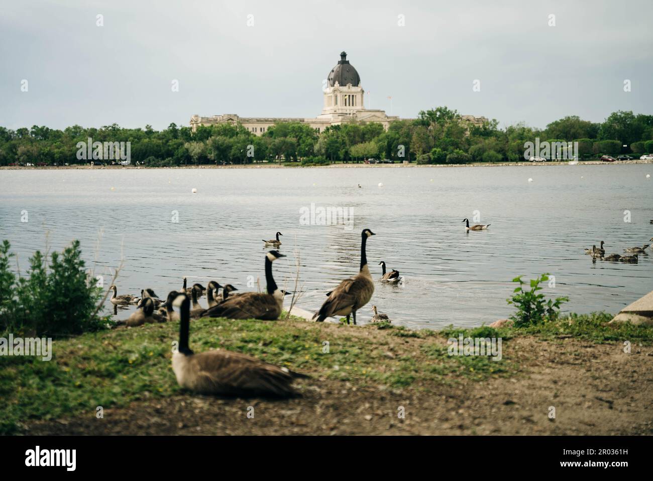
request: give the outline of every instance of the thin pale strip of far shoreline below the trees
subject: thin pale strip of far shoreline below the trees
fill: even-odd
[[[374,169],[374,168],[383,168],[383,169],[393,169],[398,167],[438,167],[438,168],[453,168],[453,167],[538,167],[538,166],[554,166],[554,165],[630,165],[630,164],[650,164],[653,163],[651,160],[618,160],[614,162],[602,162],[600,160],[586,160],[586,161],[577,161],[577,163],[569,163],[569,161],[549,161],[549,162],[500,162],[500,163],[486,163],[486,162],[474,162],[474,163],[462,163],[462,164],[417,164],[417,163],[393,163],[393,164],[366,164],[366,163],[332,163],[329,165],[300,165],[299,162],[293,163],[291,165],[284,164],[275,164],[275,163],[260,163],[260,164],[246,164],[246,165],[179,165],[175,167],[146,167],[145,165],[59,165],[57,167],[52,165],[33,165],[31,167],[20,166],[20,165],[3,165],[0,166],[0,170],[11,171],[11,170],[118,170],[118,169],[283,169],[285,167],[289,169],[338,169],[344,167],[347,169],[353,168],[364,168],[364,169]]]

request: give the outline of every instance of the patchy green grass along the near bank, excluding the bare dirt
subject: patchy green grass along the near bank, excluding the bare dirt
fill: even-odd
[[[387,323],[362,327],[336,323],[202,319],[191,324],[196,352],[225,348],[320,378],[355,386],[428,391],[434,383],[460,378],[486,380],[519,372],[509,339],[534,335],[544,339],[573,336],[594,342],[653,341],[653,329],[607,325],[605,313],[573,315],[540,327],[411,331]],[[569,322],[571,320],[571,322]],[[502,337],[503,359],[449,356],[447,339]],[[181,393],[170,366],[178,323],[86,333],[53,342],[52,360],[4,357],[0,369],[0,434],[19,432],[28,420],[71,415],[95,416],[97,406],[116,408],[132,401]],[[328,342],[328,353],[323,352]]]

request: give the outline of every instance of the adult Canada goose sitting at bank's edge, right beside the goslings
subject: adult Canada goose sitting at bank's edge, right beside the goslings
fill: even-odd
[[[274,321],[279,318],[283,308],[285,291],[277,288],[272,277],[272,262],[285,257],[276,250],[265,254],[265,282],[267,292],[244,292],[227,297],[225,301],[202,312],[202,317],[229,319],[261,319]],[[227,291],[227,295],[229,291]],[[224,295],[224,293],[223,293]]]

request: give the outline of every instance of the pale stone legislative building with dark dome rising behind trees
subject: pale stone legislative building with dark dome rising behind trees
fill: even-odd
[[[263,135],[267,129],[278,122],[301,122],[308,124],[318,132],[323,132],[330,125],[340,125],[346,122],[377,122],[388,129],[391,122],[399,120],[398,116],[389,116],[385,110],[365,108],[365,91],[360,84],[357,70],[347,60],[347,54],[341,52],[340,61],[331,69],[327,76],[324,92],[322,113],[314,118],[278,118],[278,117],[240,117],[236,114],[222,114],[211,117],[191,117],[193,132],[199,125],[240,124],[255,135]],[[462,116],[466,122],[483,124],[485,117],[472,115]]]

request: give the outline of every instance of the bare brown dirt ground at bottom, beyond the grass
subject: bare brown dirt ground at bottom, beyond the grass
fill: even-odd
[[[419,342],[418,339],[404,342]],[[514,339],[520,372],[486,381],[354,386],[319,374],[294,399],[178,395],[27,423],[27,435],[651,435],[653,348]],[[253,417],[251,417],[253,407]],[[404,406],[405,417],[398,417]],[[550,406],[555,418],[549,417]],[[247,416],[248,412],[249,417]]]

